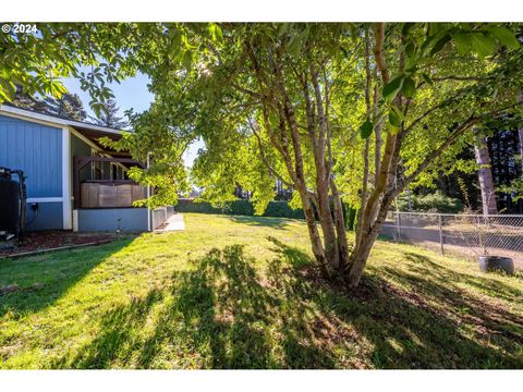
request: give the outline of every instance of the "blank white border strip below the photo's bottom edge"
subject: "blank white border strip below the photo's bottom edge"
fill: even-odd
[[[0,372],[5,391],[381,391],[475,392],[514,389],[521,370],[25,370]],[[516,389],[516,388],[515,388]]]

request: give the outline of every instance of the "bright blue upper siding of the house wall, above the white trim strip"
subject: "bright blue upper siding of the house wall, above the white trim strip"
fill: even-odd
[[[61,197],[62,130],[0,115],[0,167],[24,171],[27,197]]]

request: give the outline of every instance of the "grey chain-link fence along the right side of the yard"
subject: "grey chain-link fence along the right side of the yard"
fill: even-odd
[[[523,269],[523,216],[389,212],[381,234],[441,254],[510,257]]]

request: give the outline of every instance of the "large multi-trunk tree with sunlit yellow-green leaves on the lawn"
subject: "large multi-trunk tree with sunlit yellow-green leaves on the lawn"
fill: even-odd
[[[200,137],[192,175],[203,197],[222,201],[240,184],[257,212],[280,180],[304,209],[319,268],[355,286],[394,197],[451,167],[473,125],[514,108],[513,27],[178,26],[156,47],[156,101],[134,135],[149,143],[135,146],[160,157]],[[360,210],[352,246],[342,199]]]

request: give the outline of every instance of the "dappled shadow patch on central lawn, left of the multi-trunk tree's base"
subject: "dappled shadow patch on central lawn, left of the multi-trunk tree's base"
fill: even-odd
[[[150,342],[175,341],[182,352],[200,358],[207,368],[281,368],[332,367],[326,353],[315,346],[301,345],[291,331],[306,330],[292,309],[281,308],[282,298],[255,269],[255,259],[244,254],[241,245],[223,250],[211,249],[195,262],[196,268],[174,278],[173,303],[160,319]],[[299,311],[301,309],[297,309]],[[179,315],[179,335],[172,336],[172,315]],[[302,363],[282,358],[277,348],[281,328],[284,353],[295,352]],[[276,333],[275,333],[276,332]],[[148,367],[159,344],[148,345],[141,356],[141,366]],[[145,355],[144,355],[145,354]]]

